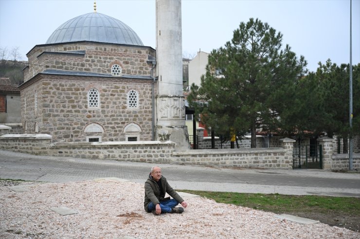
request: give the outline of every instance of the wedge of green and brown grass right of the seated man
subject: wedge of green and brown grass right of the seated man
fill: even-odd
[[[214,199],[217,203],[234,204],[276,214],[285,213],[360,231],[360,198],[357,197],[179,191]]]

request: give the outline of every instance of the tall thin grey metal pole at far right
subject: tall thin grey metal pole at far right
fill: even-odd
[[[353,170],[353,135],[352,135],[352,127],[353,127],[353,64],[352,64],[352,41],[351,41],[351,0],[350,0],[350,92],[349,92],[349,170]]]

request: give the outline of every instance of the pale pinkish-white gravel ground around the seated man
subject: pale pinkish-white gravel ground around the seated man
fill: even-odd
[[[16,192],[0,187],[1,239],[360,239],[360,233],[318,223],[302,225],[275,214],[184,198],[182,214],[144,211],[144,186],[112,180],[45,183]],[[50,208],[78,213],[62,216]]]

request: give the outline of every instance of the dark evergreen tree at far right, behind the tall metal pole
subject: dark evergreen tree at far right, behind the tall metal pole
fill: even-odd
[[[347,137],[349,134],[360,135],[360,64],[353,66],[353,128],[349,123],[349,64],[332,64],[328,59],[325,64],[319,63],[314,74],[320,83],[320,97],[322,99],[321,118],[317,120],[318,128],[326,132],[327,136],[337,135],[344,139],[344,151],[347,151]]]

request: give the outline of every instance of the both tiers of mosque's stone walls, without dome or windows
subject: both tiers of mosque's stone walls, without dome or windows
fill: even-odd
[[[94,42],[38,45],[28,53],[21,90],[24,132],[49,134],[52,142],[126,141],[129,124],[139,129],[138,141],[152,139],[152,65],[155,50]],[[121,67],[112,76],[111,66]],[[90,89],[99,92],[99,106],[88,107]],[[130,91],[138,94],[137,107],[129,108]],[[156,91],[155,91],[156,94]],[[95,123],[101,132],[85,132]]]

